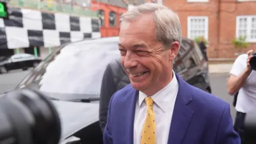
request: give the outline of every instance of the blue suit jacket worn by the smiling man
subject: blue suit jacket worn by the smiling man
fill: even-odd
[[[229,104],[210,93],[189,85],[177,74],[179,90],[175,101],[168,143],[238,144]],[[109,102],[106,144],[132,144],[135,102],[138,91],[127,85]],[[159,143],[164,144],[164,143]]]

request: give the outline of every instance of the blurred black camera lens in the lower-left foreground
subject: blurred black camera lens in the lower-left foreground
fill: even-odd
[[[21,89],[0,97],[0,143],[57,144],[60,136],[57,110],[44,94]]]

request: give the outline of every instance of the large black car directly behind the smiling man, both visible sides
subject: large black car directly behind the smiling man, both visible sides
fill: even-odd
[[[62,139],[70,136],[81,143],[103,143],[99,127],[99,94],[104,70],[120,57],[118,37],[84,40],[62,45],[45,58],[17,86],[37,89],[56,106]],[[183,38],[174,70],[187,82],[211,92],[207,63],[199,47]]]

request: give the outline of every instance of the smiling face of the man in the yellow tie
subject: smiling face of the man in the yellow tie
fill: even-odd
[[[150,14],[121,25],[121,63],[134,89],[153,91],[167,85],[172,78],[172,60],[177,55],[178,47],[179,43],[174,42],[165,50],[163,44],[157,41]]]

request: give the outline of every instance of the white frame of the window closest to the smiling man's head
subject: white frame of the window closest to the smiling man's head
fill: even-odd
[[[191,31],[191,29],[190,29],[190,20],[191,19],[204,19],[204,25],[205,25],[205,30],[204,30],[204,38],[205,38],[205,40],[206,41],[208,41],[208,32],[209,32],[209,19],[208,19],[208,17],[207,16],[188,16],[188,32],[187,32],[187,34],[188,34],[188,38],[190,38],[190,31]],[[193,39],[194,40],[194,39]]]

